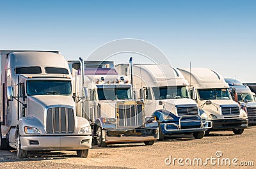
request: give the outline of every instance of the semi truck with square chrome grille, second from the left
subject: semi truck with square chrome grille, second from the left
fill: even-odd
[[[120,76],[113,61],[68,61],[73,96],[81,117],[90,121],[94,143],[144,142],[152,145],[158,129],[146,117],[144,102],[133,98],[129,77]],[[81,111],[80,111],[81,110]]]

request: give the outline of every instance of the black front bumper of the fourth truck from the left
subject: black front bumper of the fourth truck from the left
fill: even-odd
[[[248,127],[248,119],[220,119],[212,120],[211,131],[227,129],[244,129]]]

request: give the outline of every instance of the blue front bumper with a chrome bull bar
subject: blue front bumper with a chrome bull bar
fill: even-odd
[[[206,131],[212,128],[211,121],[179,121],[179,122],[162,122],[160,124],[164,135],[172,135],[173,133],[190,133],[196,131]]]

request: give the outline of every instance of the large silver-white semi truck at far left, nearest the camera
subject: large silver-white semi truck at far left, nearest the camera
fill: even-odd
[[[1,149],[77,151],[92,147],[90,123],[76,115],[72,76],[58,51],[1,50]]]

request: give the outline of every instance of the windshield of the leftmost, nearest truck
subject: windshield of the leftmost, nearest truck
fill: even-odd
[[[29,80],[27,82],[27,92],[29,96],[45,94],[70,95],[71,82],[56,80]]]

